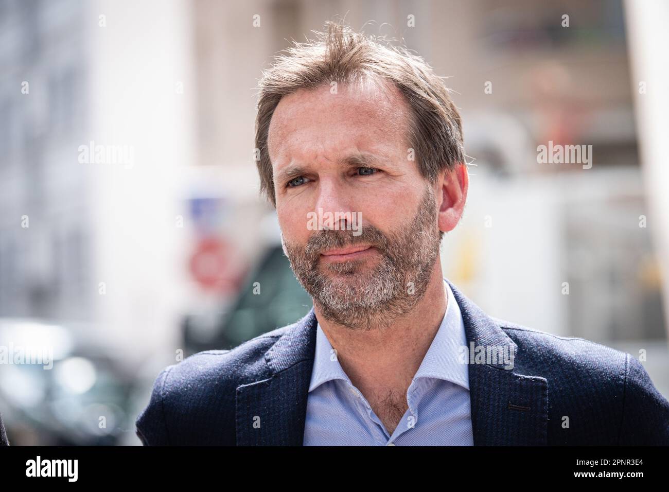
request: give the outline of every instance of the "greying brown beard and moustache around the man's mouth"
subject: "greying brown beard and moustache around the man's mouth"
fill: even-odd
[[[406,230],[405,234],[401,234]],[[383,329],[410,313],[423,299],[434,263],[439,257],[440,231],[436,227],[436,202],[427,187],[423,200],[406,228],[383,234],[373,226],[360,236],[347,230],[317,231],[306,248],[284,244],[296,278],[330,322],[351,329]],[[337,274],[332,278],[319,266],[320,252],[355,244],[372,244],[381,253],[377,265],[362,271],[367,260],[350,260],[322,266]]]

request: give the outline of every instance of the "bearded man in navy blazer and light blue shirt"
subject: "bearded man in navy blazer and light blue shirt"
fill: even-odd
[[[489,317],[443,277],[468,190],[458,111],[421,58],[326,28],[264,74],[256,125],[314,307],[163,370],[142,442],[669,444],[669,402],[634,357]]]

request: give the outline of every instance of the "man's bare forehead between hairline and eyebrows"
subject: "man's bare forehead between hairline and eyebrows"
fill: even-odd
[[[268,151],[276,171],[307,155],[337,155],[351,149],[405,151],[410,109],[390,82],[300,89],[279,102],[268,133]]]

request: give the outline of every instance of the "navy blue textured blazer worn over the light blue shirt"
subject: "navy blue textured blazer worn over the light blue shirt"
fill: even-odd
[[[516,351],[512,370],[469,366],[475,446],[669,444],[669,402],[635,357],[490,317],[448,283],[468,344]],[[301,446],[315,347],[312,308],[234,349],[169,365],[136,434],[145,445]]]

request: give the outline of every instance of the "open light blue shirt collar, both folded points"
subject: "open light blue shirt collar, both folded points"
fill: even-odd
[[[442,323],[427,349],[425,357],[413,377],[432,378],[450,381],[469,390],[469,374],[467,364],[458,360],[460,347],[466,347],[467,338],[464,330],[464,321],[460,306],[456,302],[453,292],[444,279],[444,289],[448,297],[448,305]],[[330,380],[344,380],[351,384],[349,376],[337,361],[336,353],[320,328],[316,326],[316,351],[314,353],[314,366],[311,373],[309,392]],[[412,382],[413,383],[413,382]]]

